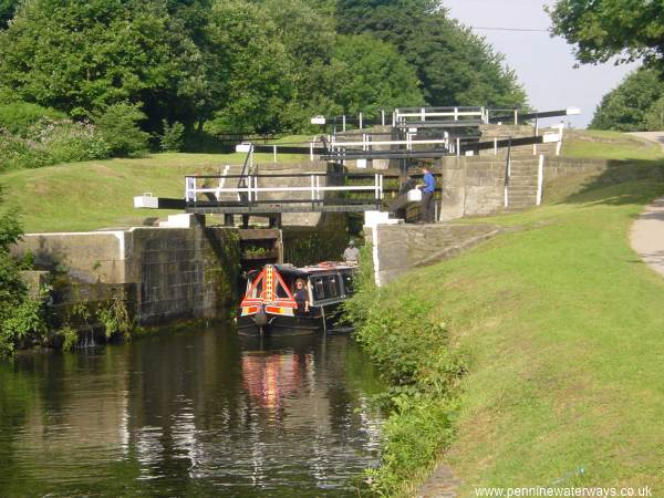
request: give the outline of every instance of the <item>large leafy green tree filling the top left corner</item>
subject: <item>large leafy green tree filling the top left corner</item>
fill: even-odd
[[[0,87],[74,117],[143,102],[155,129],[176,101],[195,106],[199,60],[158,0],[32,0],[0,32]]]

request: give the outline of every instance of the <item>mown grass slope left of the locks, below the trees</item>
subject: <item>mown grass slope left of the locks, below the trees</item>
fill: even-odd
[[[7,187],[7,204],[20,208],[29,232],[94,230],[178,212],[134,209],[133,197],[151,191],[183,198],[186,175],[216,174],[243,160],[245,154],[154,154],[19,169],[0,175],[0,184]],[[278,160],[295,163],[301,156],[279,154]],[[271,154],[255,155],[257,164],[271,162]]]

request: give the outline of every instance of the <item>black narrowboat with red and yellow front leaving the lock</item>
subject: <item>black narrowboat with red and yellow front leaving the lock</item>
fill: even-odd
[[[356,267],[325,262],[313,267],[266,264],[247,277],[238,332],[300,335],[334,326],[340,304],[353,293]]]

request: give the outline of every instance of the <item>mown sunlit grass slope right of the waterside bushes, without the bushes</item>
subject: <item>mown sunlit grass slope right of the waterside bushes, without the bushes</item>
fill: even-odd
[[[529,229],[397,283],[419,281],[423,299],[438,290],[433,313],[470,351],[447,457],[464,496],[561,479],[664,492],[664,280],[627,241],[664,193],[652,167],[653,178],[518,215]]]

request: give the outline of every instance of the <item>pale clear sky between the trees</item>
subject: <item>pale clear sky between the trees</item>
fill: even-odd
[[[579,116],[566,122],[585,127],[602,96],[614,89],[637,64],[613,63],[582,65],[574,69],[572,46],[549,33],[498,31],[479,28],[517,28],[547,30],[551,25],[542,0],[443,0],[449,17],[487,39],[505,55],[526,89],[530,105],[540,111],[579,107]],[[553,122],[560,118],[552,118]]]

